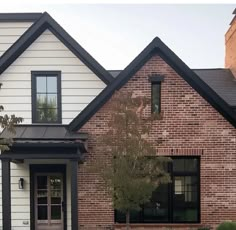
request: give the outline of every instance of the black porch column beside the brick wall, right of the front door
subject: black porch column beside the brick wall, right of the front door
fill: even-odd
[[[78,230],[78,160],[71,160],[71,230]]]

